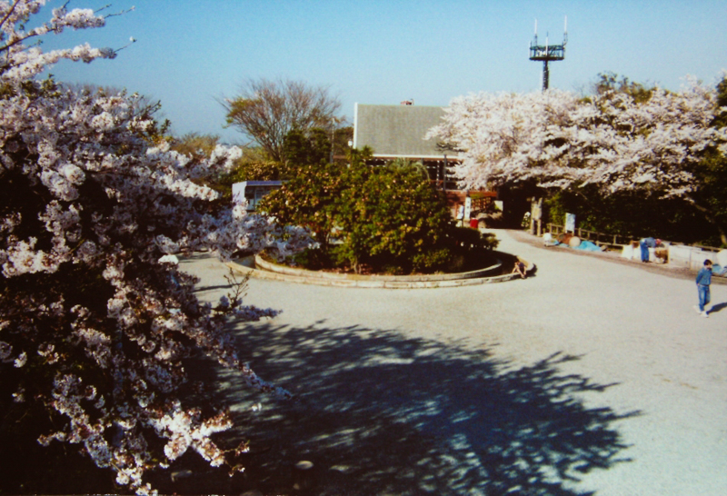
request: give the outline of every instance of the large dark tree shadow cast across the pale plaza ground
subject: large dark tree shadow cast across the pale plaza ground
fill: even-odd
[[[233,332],[241,357],[294,399],[251,392],[197,363],[238,426],[224,442],[249,441],[251,453],[240,460],[244,473],[226,481],[207,467],[182,482],[159,479],[160,491],[304,493],[294,491],[292,467],[307,460],[316,495],[576,495],[586,494],[583,474],[628,461],[614,423],[639,412],[587,407],[583,393],[613,384],[559,371],[577,357],[516,367],[456,342],[324,322]]]

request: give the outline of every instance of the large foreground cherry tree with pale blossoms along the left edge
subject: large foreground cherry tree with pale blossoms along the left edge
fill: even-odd
[[[61,59],[117,52],[28,45],[105,25],[107,15],[63,5],[25,31],[44,5],[0,1],[0,371],[3,391],[12,387],[0,406],[5,419],[45,409],[38,442],[77,445],[118,484],[150,492],[144,472],[187,450],[227,462],[210,439],[231,427],[226,413],[178,397],[185,356],[202,351],[252,387],[289,395],[241,362],[223,331],[230,315],[254,321],[274,311],[244,305],[239,292],[199,303],[194,278],[162,255],[207,248],[229,258],[265,247],[284,255],[310,237],[244,205],[214,203],[204,178],[229,170],[239,149],[190,158],[152,143],[155,123],[139,96],[38,82]]]

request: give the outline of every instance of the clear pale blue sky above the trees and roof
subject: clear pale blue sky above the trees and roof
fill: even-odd
[[[51,1],[41,15],[62,5]],[[73,0],[100,8],[108,0]],[[67,32],[44,46],[89,42],[120,47],[112,61],[61,63],[56,79],[126,88],[161,100],[175,134],[218,134],[218,99],[245,78],[277,77],[330,86],[353,122],[354,103],[446,105],[472,92],[539,91],[543,64],[528,59],[538,40],[563,41],[565,60],[551,63],[550,86],[586,91],[613,72],[678,90],[692,74],[715,83],[727,68],[724,0],[116,0],[133,12],[104,28]],[[55,38],[55,39],[54,39]]]

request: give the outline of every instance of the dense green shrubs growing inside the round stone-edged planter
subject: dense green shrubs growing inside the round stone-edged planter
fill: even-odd
[[[371,167],[310,164],[260,203],[283,223],[309,227],[320,248],[299,254],[308,269],[362,273],[433,273],[456,270],[492,250],[492,234],[453,226],[443,193],[417,164]],[[335,243],[334,236],[335,234]]]

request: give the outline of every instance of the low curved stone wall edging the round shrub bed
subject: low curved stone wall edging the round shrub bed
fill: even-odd
[[[525,262],[525,261],[523,261]],[[525,262],[528,267],[531,263]],[[516,273],[503,275],[487,275],[501,270],[502,263],[468,273],[443,273],[429,275],[358,275],[344,273],[324,273],[294,269],[277,263],[270,263],[256,256],[254,262],[230,262],[227,265],[234,271],[244,273],[258,279],[286,281],[289,283],[316,284],[323,286],[357,287],[357,288],[441,288],[468,286],[485,283],[502,283],[519,279]],[[254,265],[254,266],[253,266]]]

